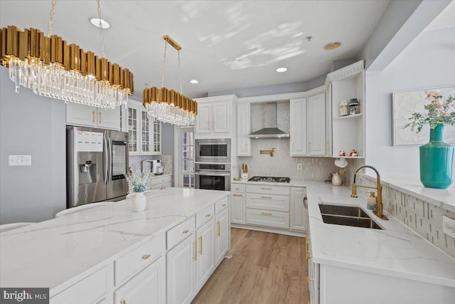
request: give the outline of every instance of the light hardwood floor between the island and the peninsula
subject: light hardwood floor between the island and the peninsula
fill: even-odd
[[[309,300],[305,239],[231,229],[232,258],[225,258],[193,304],[301,304]]]

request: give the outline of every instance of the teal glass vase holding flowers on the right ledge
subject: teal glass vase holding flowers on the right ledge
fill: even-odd
[[[442,141],[444,125],[429,130],[429,142],[420,146],[420,182],[425,187],[446,189],[452,183],[454,149]]]

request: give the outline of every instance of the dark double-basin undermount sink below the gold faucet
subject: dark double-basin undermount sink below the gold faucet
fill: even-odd
[[[359,207],[319,204],[319,210],[326,224],[382,229]]]

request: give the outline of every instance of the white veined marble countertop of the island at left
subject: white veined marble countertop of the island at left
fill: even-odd
[[[152,190],[143,212],[126,199],[2,232],[0,285],[48,287],[53,296],[229,193]]]

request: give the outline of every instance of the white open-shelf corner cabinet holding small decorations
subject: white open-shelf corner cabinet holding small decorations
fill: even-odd
[[[332,156],[338,157],[340,151],[346,157],[352,150],[357,157],[365,157],[365,73],[363,61],[327,75],[331,81],[332,112]],[[357,98],[360,105],[354,115],[340,115],[340,103]]]

